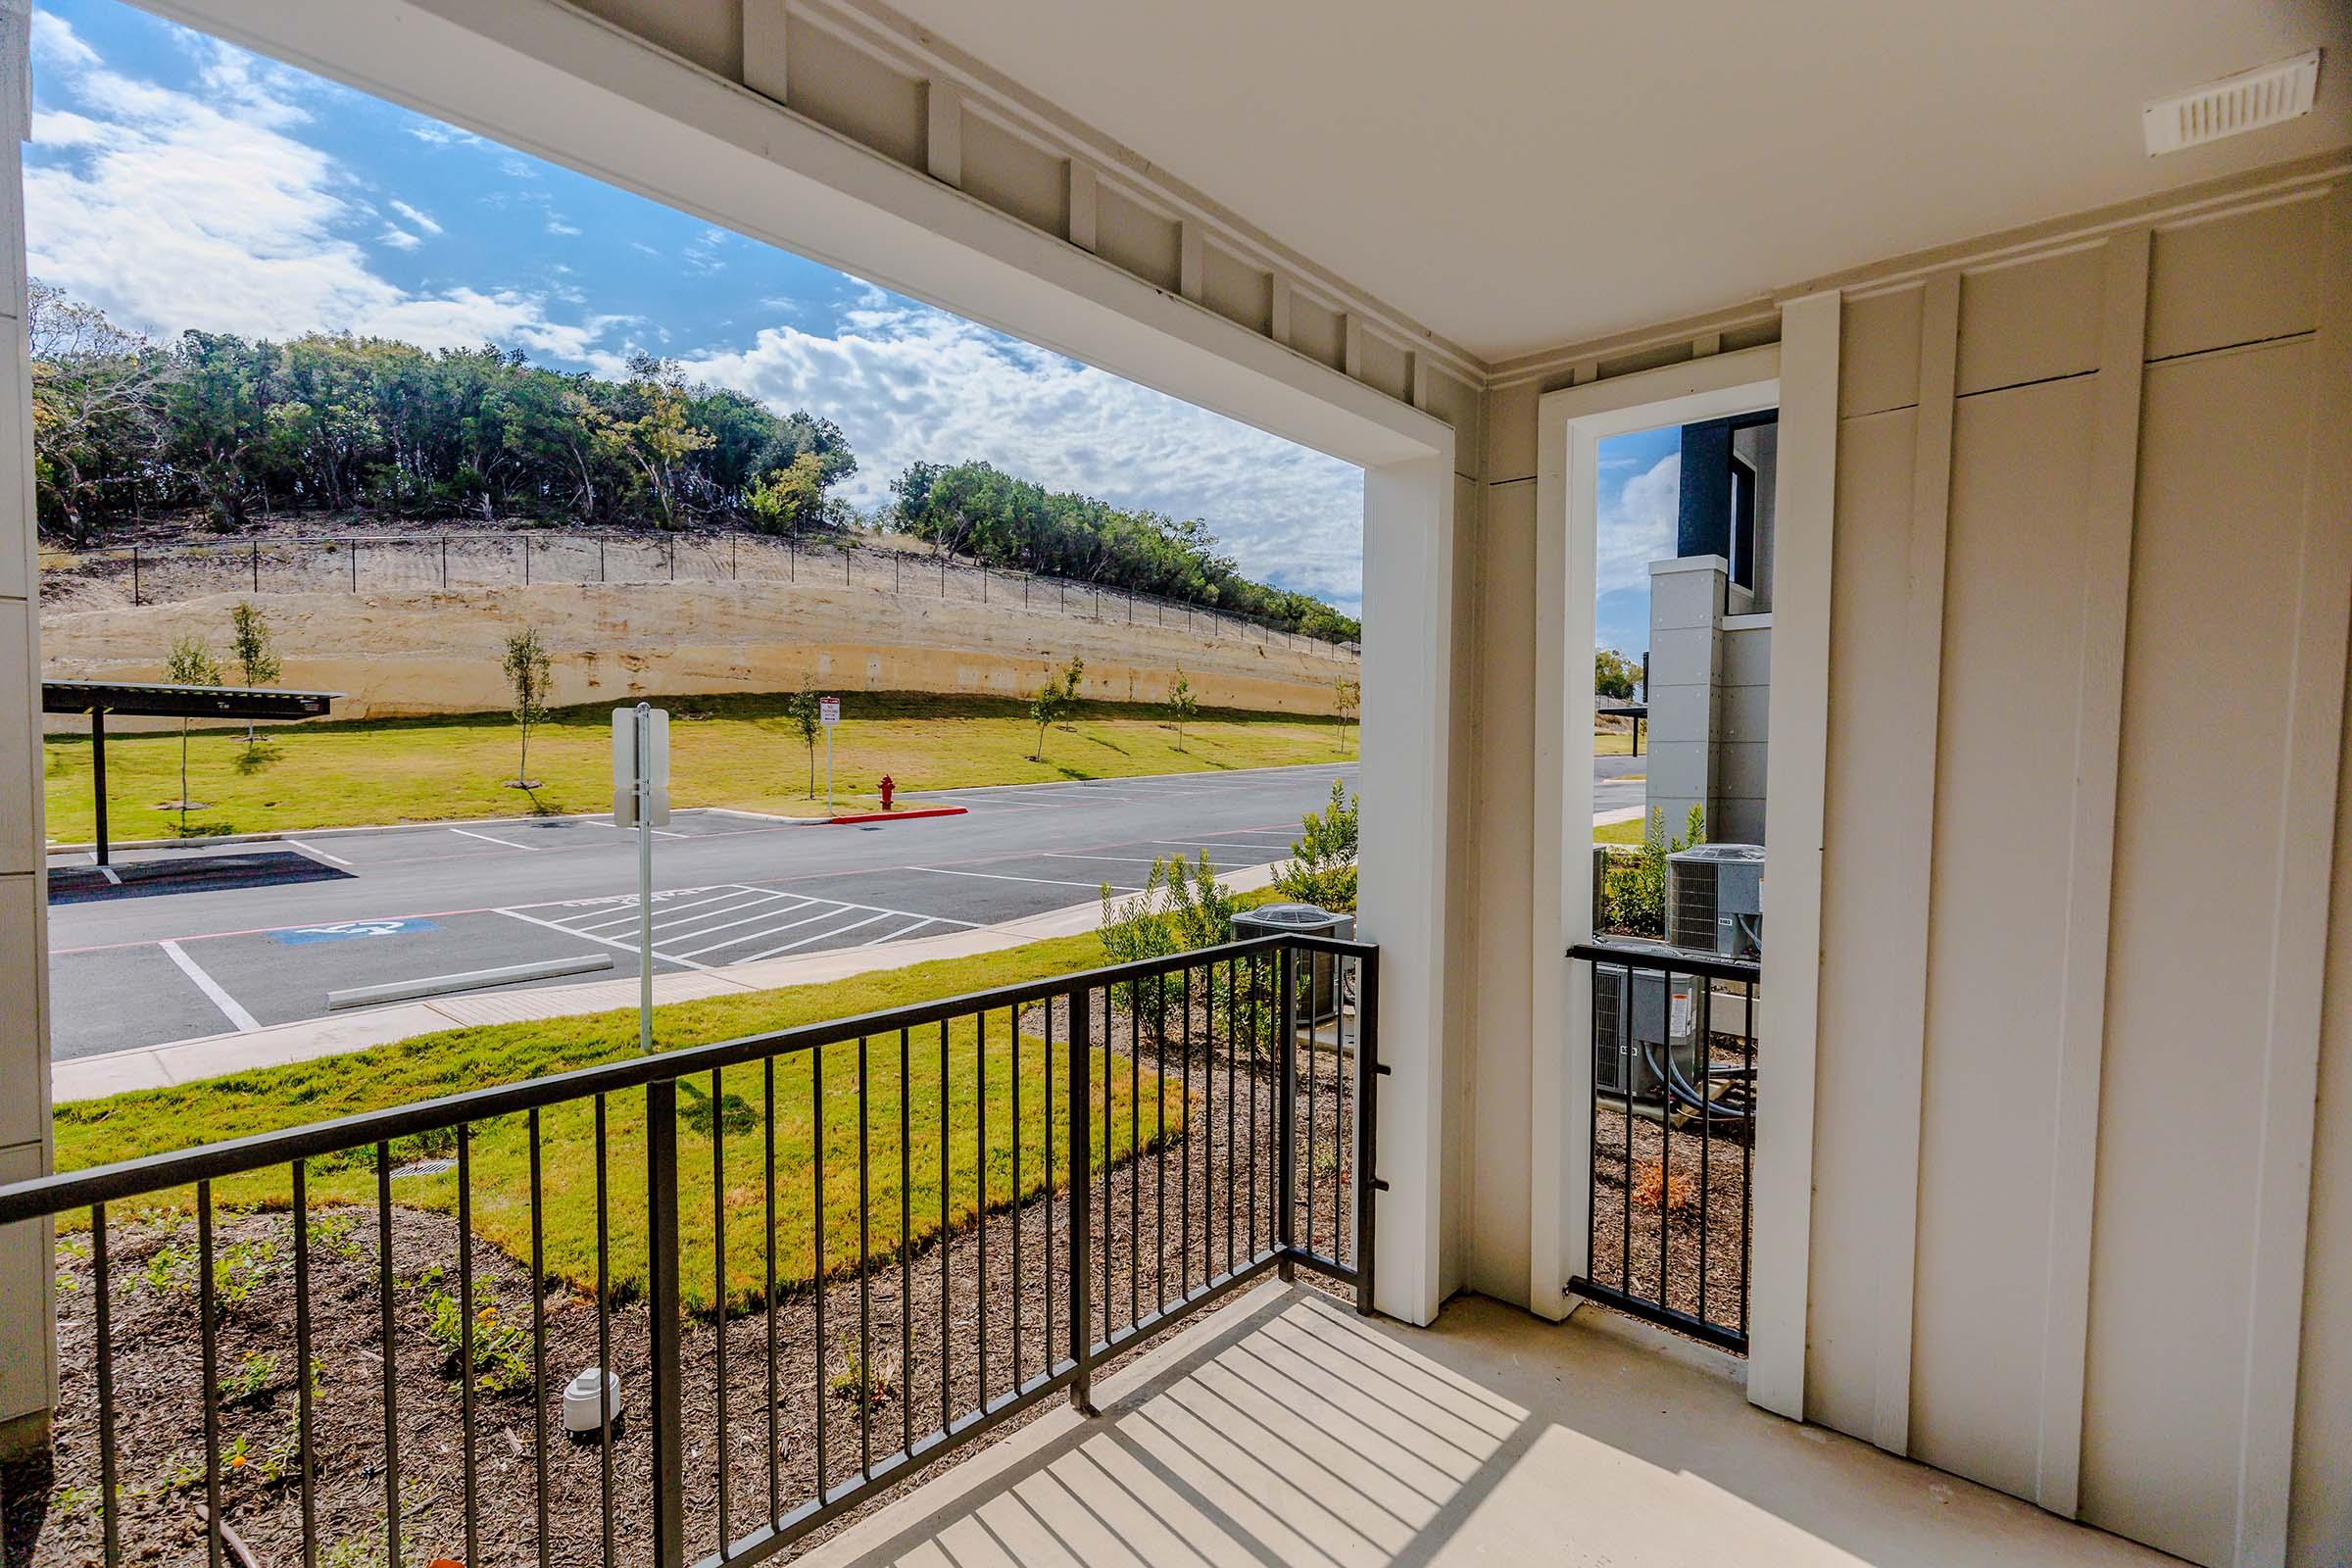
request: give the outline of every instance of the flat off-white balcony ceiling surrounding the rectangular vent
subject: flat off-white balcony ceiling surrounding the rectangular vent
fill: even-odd
[[[2352,143],[2345,0],[894,0],[1484,360]],[[2326,47],[2317,113],[2140,106]]]

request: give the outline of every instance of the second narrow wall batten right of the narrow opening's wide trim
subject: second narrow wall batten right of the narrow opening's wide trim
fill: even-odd
[[[2124,628],[2140,468],[2147,343],[2147,228],[2107,240],[2100,268],[2098,402],[2084,541],[2074,795],[2067,830],[2065,969],[2058,997],[2058,1103],[2042,1319],[2034,1502],[2074,1516],[2082,1394],[2091,1333],[2091,1213],[2098,1199],[2098,1077],[2107,1048],[2107,919],[2114,907],[2114,792],[2124,736]]]

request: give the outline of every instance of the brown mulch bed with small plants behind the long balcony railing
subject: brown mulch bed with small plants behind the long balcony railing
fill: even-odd
[[[1122,1048],[1127,1041],[1120,1041]],[[1145,1067],[1181,1074],[1185,1053],[1167,1056],[1141,1046]],[[1120,1058],[1124,1063],[1124,1056]],[[1301,1213],[1301,1234],[1324,1255],[1343,1255],[1352,1244],[1352,1215],[1334,1194],[1350,1182],[1338,1154],[1352,1119],[1352,1098],[1334,1095],[1336,1058],[1317,1053],[1312,1114],[1315,1161],[1308,1161],[1308,1105],[1298,1098],[1301,1173],[1315,1168],[1319,1199],[1312,1229]],[[1202,1286],[1228,1255],[1247,1262],[1251,1244],[1251,1190],[1256,1239],[1268,1244],[1272,1213],[1272,1117],[1270,1079],[1258,1077],[1256,1110],[1249,1107],[1251,1070],[1235,1067],[1242,1088],[1240,1117],[1228,1093],[1228,1060],[1204,1046],[1190,1051],[1195,1119],[1185,1135],[1157,1152],[1115,1168],[1108,1180],[1110,1215],[1101,1211],[1105,1182],[1094,1185],[1096,1255],[1089,1288],[1096,1333],[1103,1314],[1127,1326],[1155,1300],[1178,1300],[1183,1281]],[[1117,1070],[1117,1063],[1115,1067]],[[1204,1084],[1214,1070],[1214,1084]],[[1211,1098],[1214,1095],[1214,1098]],[[1251,1185],[1251,1131],[1256,1131],[1256,1182]],[[1228,1187],[1228,1161],[1232,1187]],[[1228,1222],[1225,1197],[1235,1194]],[[920,1199],[917,1199],[920,1201]],[[896,1260],[875,1262],[866,1279],[835,1276],[821,1293],[786,1295],[771,1314],[746,1314],[724,1324],[687,1321],[684,1373],[684,1516],[689,1561],[720,1544],[720,1479],[727,1486],[727,1530],[743,1535],[767,1516],[771,1486],[783,1509],[816,1490],[818,1448],[826,1486],[854,1479],[866,1462],[896,1453],[913,1429],[920,1441],[941,1425],[941,1410],[962,1418],[1002,1396],[1018,1378],[1044,1371],[1047,1347],[1068,1347],[1068,1201],[1040,1197],[1002,1208],[983,1225],[917,1248],[906,1269]],[[736,1222],[760,1225],[757,1197]],[[887,1248],[896,1211],[873,1215],[875,1248]],[[616,1213],[616,1225],[621,1222]],[[313,1530],[318,1561],[329,1568],[383,1568],[386,1556],[386,1443],[383,1443],[383,1342],[379,1333],[376,1211],[343,1208],[313,1213],[310,1333],[313,1333]],[[1051,1241],[1047,1239],[1051,1234]],[[529,1269],[477,1244],[473,1253],[475,1309],[492,1309],[485,1335],[501,1326],[522,1331],[510,1361],[480,1359],[492,1380],[477,1385],[473,1413],[475,1547],[466,1542],[463,1406],[454,1352],[430,1333],[433,1293],[452,1298],[459,1286],[459,1232],[449,1218],[393,1211],[393,1373],[400,1432],[400,1535],[402,1559],[423,1568],[433,1559],[475,1563],[532,1563],[539,1559],[539,1462],[532,1403],[532,1279]],[[985,1248],[985,1274],[983,1255]],[[205,1378],[198,1342],[195,1225],[183,1218],[115,1215],[111,1234],[111,1312],[115,1446],[120,1455],[118,1507],[122,1556],[129,1563],[193,1563],[205,1559],[202,1425]],[[1018,1255],[1018,1293],[1014,1258]],[[292,1218],[285,1213],[235,1213],[214,1220],[214,1293],[223,1302],[216,1333],[219,1443],[223,1455],[223,1521],[252,1554],[254,1568],[294,1568],[303,1561],[303,1514],[296,1460],[299,1368],[294,1354]],[[1105,1291],[1103,1262],[1110,1265]],[[96,1563],[99,1441],[94,1385],[94,1281],[87,1237],[59,1244],[59,1408],[52,1446],[40,1460],[0,1472],[0,1523],[5,1561]],[[943,1300],[946,1298],[946,1305]],[[985,1314],[983,1314],[985,1302]],[[1018,1302],[1018,1345],[1016,1345]],[[816,1316],[823,1309],[826,1347],[818,1359]],[[597,1309],[590,1293],[553,1286],[546,1309],[546,1507],[550,1563],[590,1566],[604,1561],[607,1453],[595,1443],[562,1436],[560,1389],[579,1368],[597,1363]],[[858,1415],[861,1312],[870,1349],[870,1406]],[[1051,1338],[1047,1324],[1051,1319]],[[903,1335],[901,1335],[903,1324]],[[647,1549],[652,1502],[649,1472],[649,1319],[642,1302],[609,1312],[612,1368],[623,1382],[623,1420],[609,1450],[612,1552],[616,1561]],[[769,1335],[776,1347],[776,1394],[769,1399]],[[727,1359],[727,1432],[720,1441],[720,1349]],[[906,1342],[906,1354],[901,1345]],[[946,1382],[941,1363],[946,1352]],[[1105,1371],[1115,1361],[1101,1363]],[[1051,1408],[1007,1420],[1021,1420]],[[818,1420],[823,1415],[823,1427]],[[776,1443],[769,1446],[769,1422]],[[818,1441],[823,1429],[823,1441]],[[976,1453],[978,1443],[960,1453]],[[774,1455],[774,1472],[771,1472]],[[924,1472],[927,1474],[927,1472]],[[774,1476],[774,1481],[771,1481]],[[877,1500],[880,1502],[880,1500]],[[875,1507],[875,1505],[863,1505]],[[858,1509],[863,1512],[863,1509]],[[844,1528],[858,1512],[833,1521]],[[811,1537],[814,1540],[814,1537]],[[235,1561],[230,1554],[228,1561]]]

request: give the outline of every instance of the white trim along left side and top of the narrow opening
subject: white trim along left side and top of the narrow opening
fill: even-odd
[[[1592,1227],[1585,1180],[1592,973],[1569,961],[1566,950],[1592,936],[1592,682],[1578,670],[1590,658],[1599,574],[1599,442],[1778,402],[1780,348],[1764,346],[1562,388],[1536,404],[1536,865],[1529,914],[1531,1016],[1550,1025],[1538,1023],[1529,1065],[1526,1300],[1543,1316],[1576,1309],[1566,1284],[1585,1267]]]

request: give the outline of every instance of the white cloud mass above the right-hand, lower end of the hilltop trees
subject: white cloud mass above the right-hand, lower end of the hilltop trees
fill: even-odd
[[[1355,609],[1359,470],[985,327],[875,292],[835,336],[767,327],[687,371],[821,411],[858,454],[873,505],[913,461],[990,461],[1049,489],[1207,517],[1249,576]]]

